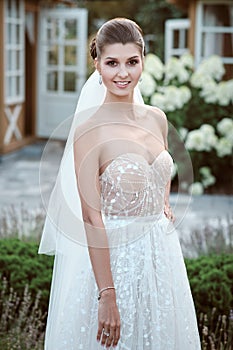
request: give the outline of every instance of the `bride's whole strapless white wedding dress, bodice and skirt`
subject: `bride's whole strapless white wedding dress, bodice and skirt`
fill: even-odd
[[[177,232],[163,214],[172,163],[166,150],[152,164],[125,153],[99,178],[121,317],[116,350],[201,348]],[[45,349],[103,349],[96,341],[98,290],[87,248],[87,263],[77,269],[77,243],[60,235],[57,246]]]

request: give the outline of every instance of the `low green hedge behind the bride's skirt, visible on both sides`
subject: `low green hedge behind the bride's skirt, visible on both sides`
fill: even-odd
[[[18,295],[25,285],[36,296],[41,292],[41,307],[47,310],[53,257],[38,255],[38,244],[19,239],[0,240],[0,274]],[[233,255],[220,254],[185,259],[196,309],[218,312],[233,308]]]

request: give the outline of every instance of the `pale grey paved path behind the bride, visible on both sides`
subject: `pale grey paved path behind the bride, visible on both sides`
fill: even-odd
[[[50,142],[41,169],[45,145],[45,142],[37,142],[0,158],[0,211],[20,204],[29,210],[42,207],[41,192],[43,196],[49,196],[64,143]],[[202,226],[218,217],[232,216],[233,196],[203,195],[193,197],[190,201],[187,195],[171,194],[171,205],[177,217],[178,227],[186,229]]]

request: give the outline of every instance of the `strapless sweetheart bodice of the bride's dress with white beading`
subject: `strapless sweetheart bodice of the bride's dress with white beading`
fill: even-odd
[[[166,150],[152,164],[136,153],[115,158],[100,176],[102,213],[113,218],[161,213],[172,164]]]

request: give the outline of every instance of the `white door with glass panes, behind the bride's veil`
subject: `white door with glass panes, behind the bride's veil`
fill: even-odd
[[[87,10],[46,9],[39,24],[37,135],[49,137],[74,114],[86,79]],[[69,127],[55,137],[66,139]]]

